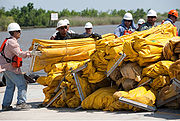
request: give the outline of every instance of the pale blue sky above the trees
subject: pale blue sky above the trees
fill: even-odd
[[[62,11],[63,9],[82,11],[86,8],[106,12],[112,9],[136,10],[143,8],[145,11],[154,9],[164,13],[171,9],[180,9],[180,0],[0,0],[0,8],[10,10],[14,7],[26,6],[34,3],[34,8]]]

